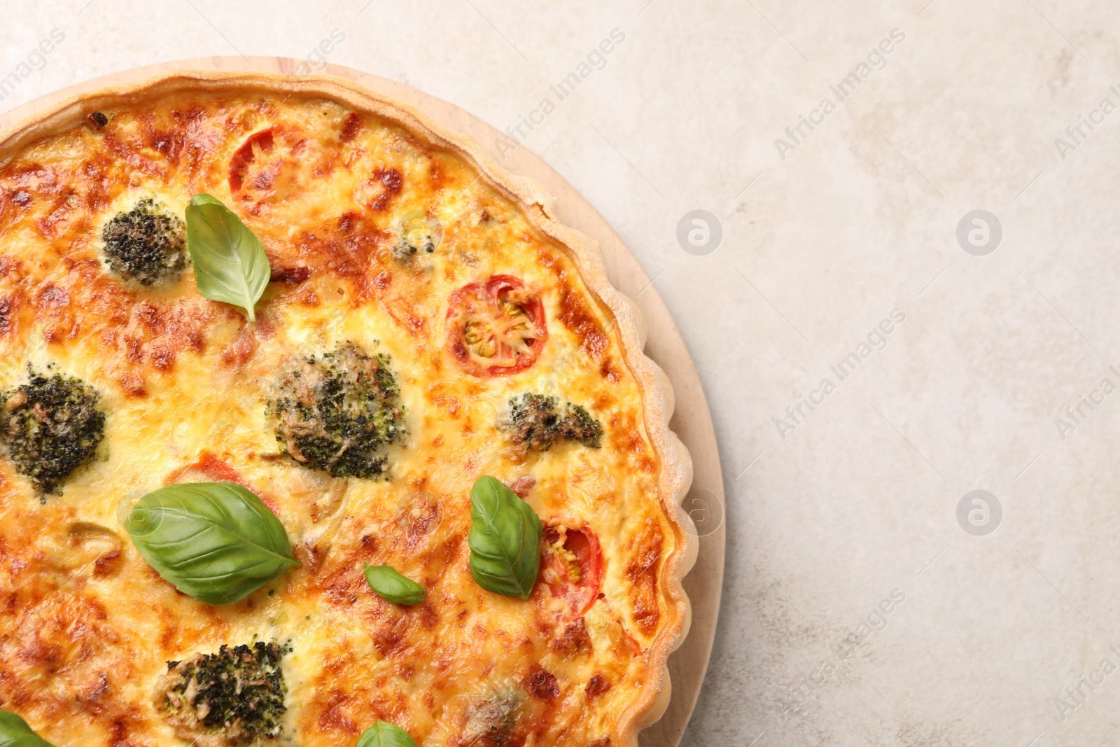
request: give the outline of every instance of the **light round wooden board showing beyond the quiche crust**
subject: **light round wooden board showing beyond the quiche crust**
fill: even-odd
[[[0,114],[0,129],[82,91],[142,81],[172,69],[261,71],[295,75],[306,72],[306,63],[288,57],[231,56],[202,57],[137,67],[64,88]],[[688,347],[669,309],[618,234],[590,203],[530,150],[523,147],[507,150],[502,158],[495,150],[495,143],[500,140],[511,143],[497,130],[454,104],[401,83],[338,65],[326,65],[316,72],[348,78],[371,91],[416,106],[439,124],[478,140],[513,174],[530,176],[541,181],[557,198],[560,221],[599,242],[610,282],[633,299],[642,310],[648,329],[646,355],[664,368],[676,395],[676,410],[670,427],[691,452],[696,473],[692,489],[684,499],[684,507],[701,527],[700,552],[696,566],[684,579],[684,589],[692,605],[692,625],[681,647],[669,660],[672,698],[665,715],[660,721],[642,731],[640,740],[642,745],[651,747],[678,747],[700,693],[716,634],[724,580],[726,529],[722,521],[724,478],[711,413]]]

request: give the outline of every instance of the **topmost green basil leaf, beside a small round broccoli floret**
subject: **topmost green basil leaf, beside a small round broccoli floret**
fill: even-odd
[[[233,211],[209,195],[192,197],[186,214],[187,251],[198,292],[212,301],[240,306],[254,321],[253,306],[272,274],[261,241]]]

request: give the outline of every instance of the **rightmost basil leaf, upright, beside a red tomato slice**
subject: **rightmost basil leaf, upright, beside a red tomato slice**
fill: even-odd
[[[541,566],[541,520],[495,477],[470,488],[470,575],[487,591],[529,599]]]

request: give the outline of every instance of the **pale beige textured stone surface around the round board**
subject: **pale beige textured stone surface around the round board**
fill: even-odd
[[[1120,105],[1120,8],[533,4],[9,1],[0,75],[18,85],[0,110],[153,62],[308,58],[334,31],[329,62],[504,129],[619,29],[525,144],[656,278],[712,404],[727,580],[685,744],[1118,744],[1120,393],[1100,384],[1120,385],[1120,112],[1099,106]],[[64,40],[20,67],[53,29]],[[893,29],[905,39],[859,77]],[[824,97],[836,111],[788,138]],[[676,240],[692,209],[721,223],[706,255]],[[974,209],[1001,225],[987,255],[956,237]],[[860,347],[894,309],[886,346]],[[823,403],[790,419],[808,395]],[[971,503],[979,527],[959,522],[973,489],[998,525]]]

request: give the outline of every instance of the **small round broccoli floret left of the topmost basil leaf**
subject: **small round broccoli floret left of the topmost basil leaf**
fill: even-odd
[[[150,198],[110,218],[101,240],[109,269],[141,286],[174,280],[187,263],[183,221]]]

